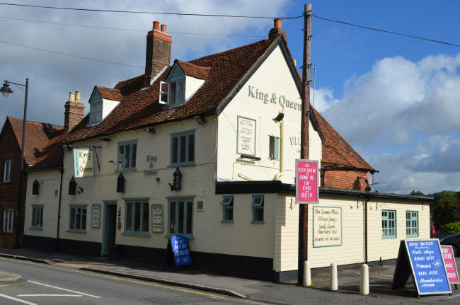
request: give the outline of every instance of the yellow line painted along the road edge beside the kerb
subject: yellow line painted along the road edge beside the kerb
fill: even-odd
[[[213,298],[219,298],[219,299],[231,300],[231,301],[238,301],[238,302],[241,302],[241,303],[267,305],[267,303],[263,303],[263,302],[260,302],[260,301],[249,301],[249,300],[245,300],[245,299],[238,299],[238,298],[231,298],[231,297],[220,297],[219,295],[216,295],[216,294],[209,294],[209,293],[206,293],[206,292],[197,292],[197,291],[195,292],[195,291],[188,290],[188,289],[181,289],[181,288],[176,288],[176,287],[168,287],[168,286],[164,286],[162,284],[153,284],[151,282],[140,282],[140,281],[136,281],[136,280],[129,280],[127,278],[113,277],[113,276],[109,276],[109,275],[103,275],[101,273],[88,272],[88,271],[82,271],[82,270],[74,270],[74,269],[71,269],[70,267],[56,267],[56,266],[53,266],[53,265],[45,265],[45,264],[42,264],[42,263],[29,262],[27,260],[16,260],[14,258],[2,258],[2,257],[0,257],[0,260],[12,260],[15,263],[22,263],[22,264],[28,264],[28,265],[34,265],[34,266],[40,266],[40,267],[48,267],[48,268],[57,269],[57,270],[63,270],[63,271],[67,271],[67,272],[77,272],[77,273],[81,273],[81,274],[84,274],[84,275],[93,275],[95,277],[104,277],[104,278],[108,278],[108,279],[112,279],[112,280],[117,280],[117,281],[120,281],[120,282],[132,282],[132,283],[135,283],[135,284],[144,284],[144,285],[153,286],[153,287],[177,290],[177,291],[180,291],[180,292],[188,292],[190,294],[200,294],[200,295],[204,295],[204,296],[207,296],[207,297],[213,297]],[[77,292],[77,293],[79,293],[79,292]]]

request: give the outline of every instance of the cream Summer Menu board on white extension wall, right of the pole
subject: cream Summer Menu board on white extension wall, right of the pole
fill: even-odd
[[[342,246],[341,207],[313,207],[313,246]]]

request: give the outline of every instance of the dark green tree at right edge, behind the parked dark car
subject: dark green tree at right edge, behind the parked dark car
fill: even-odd
[[[437,228],[449,222],[460,221],[460,192],[450,190],[438,192],[433,207],[432,217]]]

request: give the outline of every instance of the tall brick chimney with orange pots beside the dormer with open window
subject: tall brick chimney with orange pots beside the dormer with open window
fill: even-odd
[[[147,34],[145,78],[149,81],[171,62],[171,35],[166,34],[166,24],[161,25],[161,30],[159,25],[154,21],[154,29]]]

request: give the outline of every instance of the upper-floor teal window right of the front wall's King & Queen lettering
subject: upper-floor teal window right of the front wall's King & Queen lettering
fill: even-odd
[[[171,165],[195,165],[195,130],[171,134]]]

